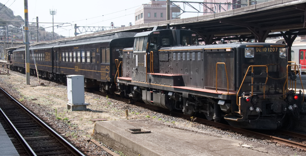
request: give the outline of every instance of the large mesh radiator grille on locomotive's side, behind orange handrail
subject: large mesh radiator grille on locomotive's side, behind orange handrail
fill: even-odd
[[[234,90],[234,52],[233,51],[204,51],[204,87],[216,87],[216,63],[224,62],[227,68],[229,90]],[[224,65],[218,65],[218,88],[227,89],[226,71]]]

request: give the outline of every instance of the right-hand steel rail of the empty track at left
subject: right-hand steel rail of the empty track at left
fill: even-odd
[[[85,156],[82,152],[80,152],[79,150],[76,149],[76,147],[74,147],[73,145],[71,145],[67,140],[65,140],[62,136],[60,136],[57,132],[55,132],[52,128],[50,128],[47,124],[45,124],[42,120],[40,120],[37,116],[35,116],[32,112],[30,112],[27,108],[25,108],[21,103],[19,103],[15,98],[13,98],[11,95],[9,95],[6,91],[4,91],[1,87],[0,87],[0,91],[2,91],[3,93],[5,93],[9,98],[11,98],[13,100],[13,102],[17,103],[18,106],[20,106],[20,108],[22,110],[24,110],[26,113],[28,113],[29,115],[31,115],[31,117],[37,121],[43,128],[45,128],[47,130],[47,132],[51,133],[52,136],[54,136],[54,138],[56,138],[60,143],[63,144],[63,146],[65,146],[72,154],[74,154],[75,156]]]

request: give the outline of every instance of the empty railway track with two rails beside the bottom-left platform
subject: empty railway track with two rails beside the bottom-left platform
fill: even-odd
[[[20,155],[84,156],[62,136],[0,88],[2,126]],[[4,122],[5,121],[5,122]]]

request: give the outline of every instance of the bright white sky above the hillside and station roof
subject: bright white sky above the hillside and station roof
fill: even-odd
[[[203,0],[187,1],[203,2]],[[0,0],[0,2],[12,9],[15,16],[20,15],[24,19],[24,0]],[[115,27],[121,27],[121,25],[128,26],[129,22],[132,22],[135,25],[135,9],[149,2],[150,0],[28,0],[28,19],[29,22],[36,22],[38,17],[39,22],[46,22],[40,23],[39,26],[52,32],[52,28],[47,27],[52,26],[50,9],[54,9],[57,11],[54,15],[54,23],[69,23],[62,27],[54,27],[54,32],[63,36],[74,36],[74,24],[109,27],[110,22],[114,22]],[[182,3],[177,5],[183,8]],[[194,6],[199,9],[199,5]],[[200,9],[203,12],[203,8]],[[185,10],[191,9],[186,7]],[[181,18],[200,15],[202,13],[183,13]]]

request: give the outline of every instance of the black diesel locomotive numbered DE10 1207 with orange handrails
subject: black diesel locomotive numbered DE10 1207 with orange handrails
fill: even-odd
[[[304,92],[288,86],[296,75],[287,72],[286,45],[197,45],[196,33],[167,36],[138,33],[134,47],[123,50],[121,96],[240,128],[283,128],[305,113]]]

